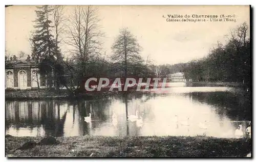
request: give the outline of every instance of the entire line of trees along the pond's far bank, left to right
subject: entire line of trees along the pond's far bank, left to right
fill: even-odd
[[[34,31],[29,39],[31,58],[28,56],[27,60],[36,63],[37,73],[46,78],[49,88],[59,90],[63,86],[74,94],[84,91],[89,77],[164,78],[176,72],[184,72],[186,78],[194,81],[250,82],[250,40],[246,23],[231,31],[226,45],[218,43],[203,59],[154,65],[149,56],[141,57],[143,48],[127,28],[119,30],[111,46],[112,55],[106,56],[97,8],[76,6],[68,16],[63,6],[36,8]],[[61,44],[69,46],[68,51],[61,51]],[[18,58],[24,55],[19,52]],[[17,57],[6,55],[6,60],[14,59]]]

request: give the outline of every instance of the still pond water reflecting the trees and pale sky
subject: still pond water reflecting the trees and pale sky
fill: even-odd
[[[138,111],[139,121],[129,115]],[[84,121],[89,113],[91,122]],[[116,114],[116,120],[112,115]],[[174,84],[164,92],[116,94],[97,100],[6,101],[12,136],[234,137],[251,120],[250,97],[227,87]]]

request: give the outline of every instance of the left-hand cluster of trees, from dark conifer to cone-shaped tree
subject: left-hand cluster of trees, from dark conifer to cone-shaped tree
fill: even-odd
[[[63,9],[63,6],[37,7],[35,31],[30,39],[38,73],[46,77],[49,88],[59,90],[64,86],[76,93],[84,91],[89,77],[154,75],[152,64],[141,57],[142,47],[129,29],[120,29],[111,47],[113,54],[108,57],[102,48],[104,33],[97,8],[76,6],[68,17]],[[70,47],[69,59],[64,59],[60,43]]]

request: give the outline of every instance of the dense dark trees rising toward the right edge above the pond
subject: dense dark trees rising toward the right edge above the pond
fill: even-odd
[[[232,29],[226,44],[217,43],[206,57],[184,64],[185,77],[199,82],[251,84],[250,37],[246,22]]]

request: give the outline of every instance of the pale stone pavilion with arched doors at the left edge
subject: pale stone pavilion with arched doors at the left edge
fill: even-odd
[[[5,89],[33,89],[38,88],[37,83],[39,88],[46,88],[46,79],[37,74],[37,70],[30,60],[5,61]]]

